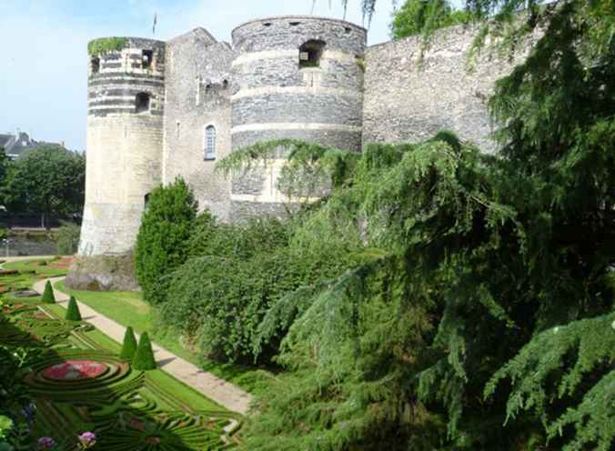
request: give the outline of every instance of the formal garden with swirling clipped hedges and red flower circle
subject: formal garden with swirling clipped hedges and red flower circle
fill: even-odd
[[[101,451],[236,443],[229,431],[239,416],[160,369],[135,370],[116,342],[85,322],[65,320],[61,306],[5,296],[0,312],[0,419],[12,424],[0,425],[0,446],[3,435],[14,449],[64,451],[85,449],[83,440]]]

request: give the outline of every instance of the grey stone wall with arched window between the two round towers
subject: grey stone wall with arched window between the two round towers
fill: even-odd
[[[230,181],[215,173],[216,162],[231,151],[231,104],[235,53],[202,28],[167,45],[163,183],[181,175],[194,190],[201,210],[227,219]],[[216,127],[215,160],[205,159],[205,128]]]

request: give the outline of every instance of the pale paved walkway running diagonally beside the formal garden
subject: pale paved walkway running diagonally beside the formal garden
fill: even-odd
[[[32,259],[33,257],[29,258]],[[7,258],[6,260],[9,261],[10,259]],[[43,293],[47,280],[51,281],[53,286],[55,282],[62,280],[63,278],[64,277],[55,277],[38,281],[35,283],[34,289],[39,293]],[[55,288],[54,294],[57,304],[66,308],[69,296],[66,296],[65,293],[62,293]],[[83,316],[88,323],[95,326],[98,330],[106,334],[106,336],[110,336],[116,340],[117,343],[122,343],[124,340],[126,327],[117,324],[115,321],[107,318],[106,316],[100,315],[96,312],[96,310],[86,306],[78,300],[77,304],[79,305],[81,316]],[[187,362],[183,358],[168,352],[165,348],[157,346],[155,343],[152,344],[152,347],[154,348],[156,362],[163,371],[176,377],[176,379],[184,382],[187,386],[191,386],[198,392],[207,396],[209,399],[214,400],[220,406],[225,406],[228,410],[242,415],[247,413],[247,409],[252,401],[252,396],[249,393],[233,384],[230,384],[224,379],[220,379],[211,373],[207,373],[207,371],[204,371],[190,362]]]

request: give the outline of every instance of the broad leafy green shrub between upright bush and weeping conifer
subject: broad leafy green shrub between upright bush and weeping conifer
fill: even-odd
[[[209,357],[224,360],[272,356],[284,327],[267,331],[260,323],[268,308],[301,286],[313,286],[349,265],[351,256],[336,246],[318,254],[291,248],[293,223],[276,219],[245,226],[217,224],[199,216],[190,238],[193,258],[168,278],[161,318],[197,338]]]

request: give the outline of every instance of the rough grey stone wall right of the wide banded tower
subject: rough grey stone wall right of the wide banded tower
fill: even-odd
[[[474,35],[463,26],[441,30],[422,63],[417,36],[369,47],[363,145],[415,142],[446,128],[493,152],[486,102],[495,81],[513,65],[481,55],[469,73],[467,55]]]

